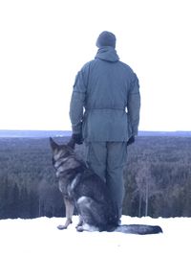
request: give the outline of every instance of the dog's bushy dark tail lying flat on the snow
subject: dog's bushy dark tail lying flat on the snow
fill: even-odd
[[[138,234],[138,235],[162,233],[162,229],[159,225],[141,225],[141,224],[119,225],[117,226],[115,231],[126,233],[126,234]]]

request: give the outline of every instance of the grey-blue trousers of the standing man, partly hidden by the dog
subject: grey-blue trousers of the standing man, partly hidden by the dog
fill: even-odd
[[[106,183],[120,218],[124,197],[123,170],[127,163],[127,143],[86,142],[85,157],[88,166]]]

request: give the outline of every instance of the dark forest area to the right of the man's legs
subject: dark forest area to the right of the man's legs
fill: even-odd
[[[191,216],[191,138],[139,137],[129,147],[124,213]]]

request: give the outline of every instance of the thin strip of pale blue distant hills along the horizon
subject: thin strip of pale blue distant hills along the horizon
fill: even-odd
[[[0,137],[69,137],[71,130],[14,130],[14,129],[0,129]],[[139,136],[176,136],[176,137],[191,137],[191,131],[142,131],[138,132]]]

